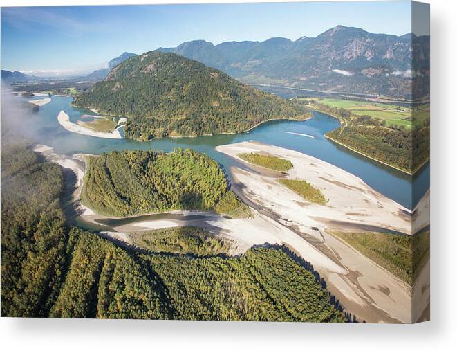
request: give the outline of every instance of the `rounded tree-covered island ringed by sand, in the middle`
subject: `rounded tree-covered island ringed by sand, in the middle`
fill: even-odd
[[[189,149],[169,154],[122,150],[91,156],[82,201],[98,213],[118,217],[167,210],[249,215],[249,208],[228,188],[218,163]]]

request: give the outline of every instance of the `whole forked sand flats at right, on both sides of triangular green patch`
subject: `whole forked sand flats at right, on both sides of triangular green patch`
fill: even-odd
[[[411,234],[411,211],[384,197],[355,177],[312,156],[255,142],[216,147],[240,161],[232,167],[232,190],[250,206],[270,213],[275,222],[304,237],[346,273],[328,271],[311,260],[326,279],[328,289],[349,311],[370,322],[411,322],[411,287],[383,267],[355,251],[331,233],[400,231]],[[288,159],[294,168],[288,179],[304,179],[321,190],[326,205],[311,204],[277,182],[271,172],[246,163],[238,154],[259,152]]]

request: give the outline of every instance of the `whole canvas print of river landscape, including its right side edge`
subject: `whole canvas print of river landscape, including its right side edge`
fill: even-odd
[[[1,316],[429,320],[429,5],[1,8]]]

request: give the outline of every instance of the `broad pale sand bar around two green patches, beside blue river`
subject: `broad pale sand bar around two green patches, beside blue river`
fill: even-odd
[[[216,147],[241,163],[251,167],[241,159],[242,153],[258,152],[288,159],[293,168],[288,179],[303,179],[321,190],[328,203],[312,204],[292,190],[282,186],[277,177],[268,177],[259,167],[259,172],[232,168],[234,181],[244,186],[245,196],[252,201],[274,208],[274,212],[286,218],[290,225],[299,226],[301,231],[315,235],[311,226],[319,229],[344,226],[377,227],[411,234],[411,211],[370,188],[362,179],[341,168],[326,163],[313,156],[282,147],[256,142],[243,142]]]

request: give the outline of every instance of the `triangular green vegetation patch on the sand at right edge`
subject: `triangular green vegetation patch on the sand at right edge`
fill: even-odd
[[[389,233],[331,233],[409,285],[429,256],[429,231],[412,237]]]

